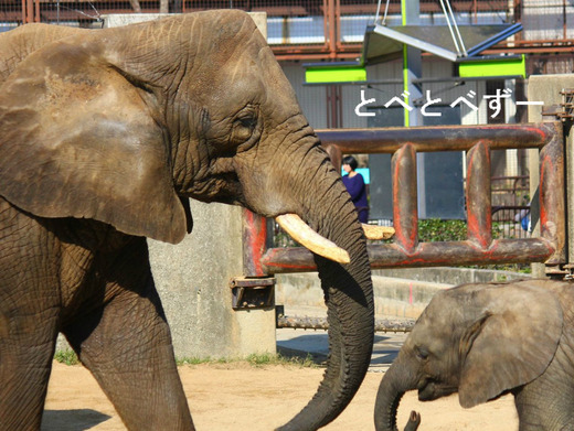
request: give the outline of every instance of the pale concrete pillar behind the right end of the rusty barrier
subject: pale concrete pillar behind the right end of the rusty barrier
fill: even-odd
[[[532,75],[528,82],[528,100],[530,103],[541,101],[540,105],[530,105],[528,109],[529,122],[540,121],[555,121],[555,117],[542,116],[543,109],[549,109],[553,105],[560,105],[562,103],[562,95],[560,91],[564,88],[574,88],[574,75]],[[572,133],[567,133],[565,137],[566,146],[566,191],[574,190],[574,142]],[[536,203],[531,214],[532,229],[533,233],[540,235],[540,223],[539,223],[539,208],[538,208],[538,186],[540,183],[539,172],[539,150],[529,150],[529,170],[530,170],[530,197]],[[536,200],[534,200],[534,197]],[[574,202],[567,200],[566,202],[566,219],[567,219],[567,237],[574,238]],[[568,240],[567,248],[567,262],[573,263],[574,260],[574,241]],[[544,265],[533,263],[532,276],[544,277]]]

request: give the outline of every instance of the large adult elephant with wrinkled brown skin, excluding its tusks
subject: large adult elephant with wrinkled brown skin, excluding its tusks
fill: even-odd
[[[26,25],[1,36],[0,73],[0,429],[40,428],[62,332],[129,430],[193,430],[145,239],[180,241],[188,197],[296,213],[349,251],[316,257],[331,355],[281,429],[333,420],[371,355],[365,241],[251,18]]]

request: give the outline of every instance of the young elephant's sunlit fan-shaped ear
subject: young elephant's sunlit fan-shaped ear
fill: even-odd
[[[482,285],[472,292],[475,304],[482,310],[460,347],[466,354],[459,382],[465,408],[543,374],[563,325],[559,299],[541,281]]]

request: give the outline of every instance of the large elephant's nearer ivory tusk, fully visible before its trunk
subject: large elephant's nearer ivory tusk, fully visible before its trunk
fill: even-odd
[[[284,214],[275,217],[275,220],[293,239],[316,255],[339,263],[349,263],[351,261],[346,250],[317,234],[297,214]]]

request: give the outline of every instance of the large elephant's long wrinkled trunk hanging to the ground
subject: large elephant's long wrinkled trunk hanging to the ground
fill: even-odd
[[[317,394],[290,422],[279,428],[283,431],[316,430],[337,418],[359,389],[373,346],[373,292],[363,230],[340,175],[326,163],[322,151],[316,153],[325,160],[315,160],[315,170],[319,165],[326,172],[316,176],[321,179],[319,184],[302,175],[305,184],[295,186],[300,187],[306,206],[300,216],[321,236],[347,250],[350,262],[338,263],[315,255],[328,306],[330,354]]]

